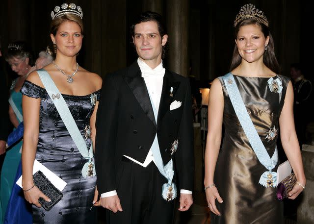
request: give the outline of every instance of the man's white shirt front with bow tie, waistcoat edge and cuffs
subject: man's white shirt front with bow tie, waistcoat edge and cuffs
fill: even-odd
[[[165,69],[162,67],[162,60],[161,60],[161,63],[155,69],[152,69],[151,67],[149,67],[145,62],[143,62],[139,58],[137,59],[137,64],[141,70],[142,77],[144,78],[147,91],[149,92],[149,95],[151,96],[151,99],[153,100],[153,103],[158,111],[161,91],[162,91],[163,76],[165,75]],[[152,149],[149,150],[144,163],[141,163],[131,158],[130,156],[126,156],[126,155],[124,156],[130,159],[131,161],[139,164],[142,167],[147,167],[152,161],[154,161]],[[191,191],[184,190],[184,189],[181,189],[180,192],[183,194],[192,194]],[[116,191],[110,191],[110,192],[103,193],[101,197],[105,198],[105,197],[114,196],[116,194],[117,194]]]

